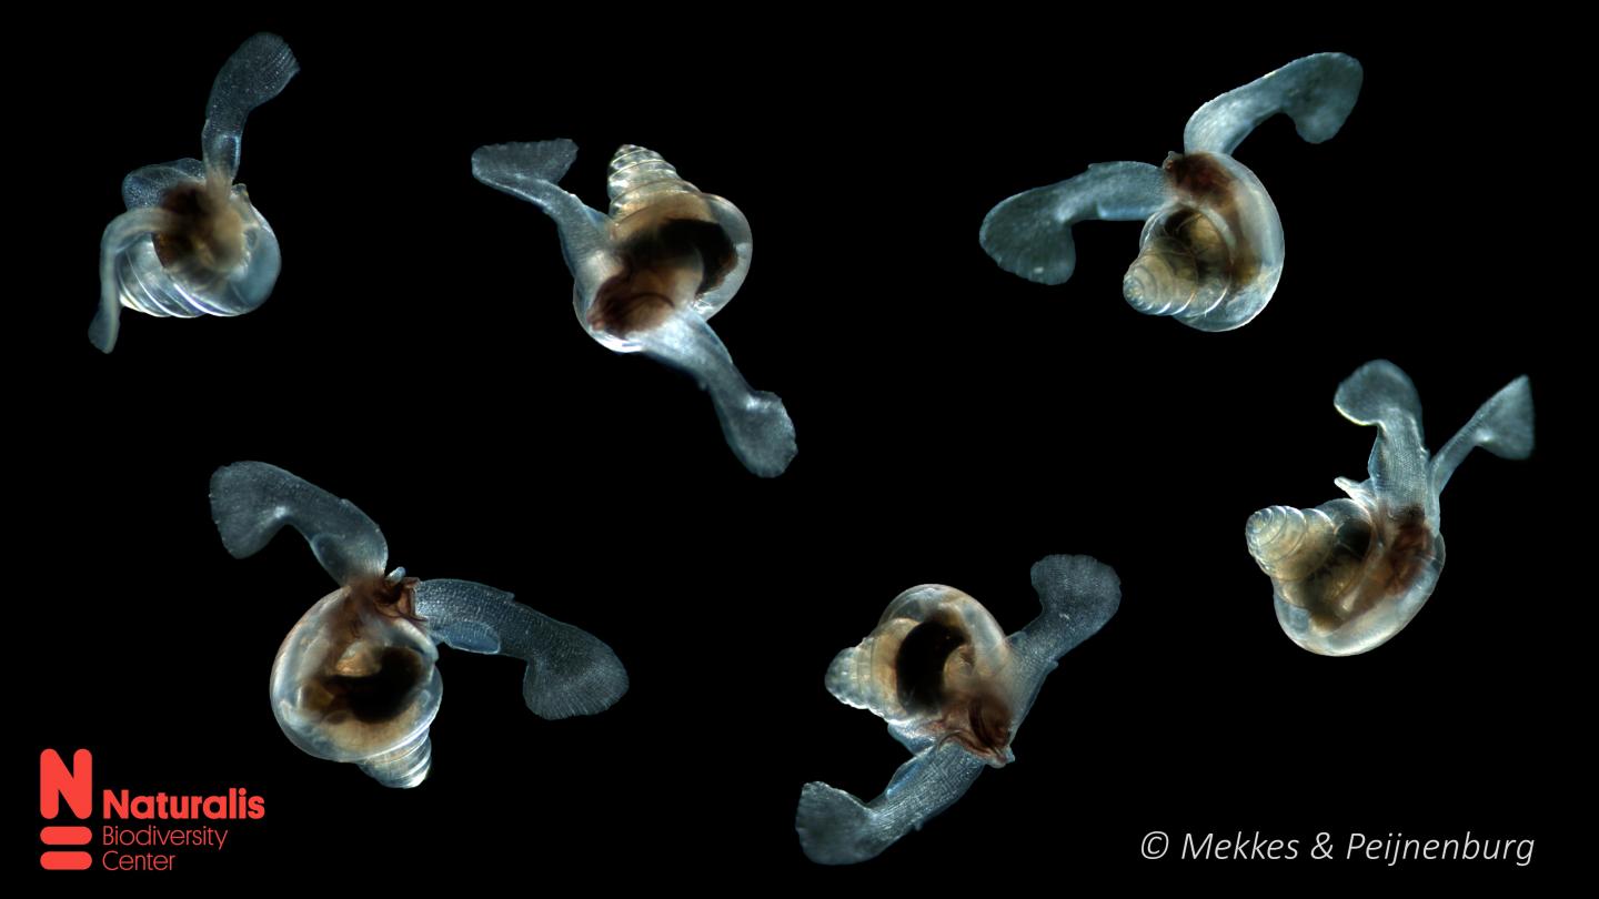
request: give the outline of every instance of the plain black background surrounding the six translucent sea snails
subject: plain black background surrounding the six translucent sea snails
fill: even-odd
[[[1569,645],[1581,549],[1557,521],[1581,497],[1554,475],[1570,450],[1553,371],[1578,298],[1546,270],[1559,229],[1537,224],[1561,101],[1524,93],[1543,78],[1535,46],[1153,13],[608,14],[18,35],[43,144],[19,190],[46,261],[13,298],[46,325],[5,336],[29,534],[11,574],[37,661],[21,771],[43,747],[90,747],[96,789],[265,797],[224,853],[161,875],[184,880],[1383,883],[1525,880],[1580,851],[1562,816],[1591,790]],[[102,357],[83,333],[120,179],[198,155],[211,78],[262,29],[302,66],[243,141],[240,179],[283,246],[273,296],[230,320],[130,312]],[[1238,154],[1289,248],[1249,326],[1132,312],[1135,224],[1078,227],[1078,272],[1055,288],[979,248],[996,202],[1092,162],[1159,162],[1201,102],[1321,50],[1366,66],[1345,130],[1311,146],[1279,117]],[[553,226],[470,176],[480,144],[555,136],[582,147],[563,184],[592,205],[609,154],[636,142],[748,216],[755,264],[713,323],[793,416],[784,477],[739,465],[689,379],[590,341]],[[1434,448],[1530,374],[1540,446],[1473,454],[1442,499],[1449,563],[1426,611],[1370,654],[1326,659],[1279,630],[1241,531],[1258,507],[1364,478],[1374,432],[1332,394],[1380,357],[1417,382]],[[422,787],[301,753],[267,672],[333,584],[297,539],[227,557],[206,480],[238,459],[357,502],[390,565],[593,632],[632,691],[542,721],[518,662],[446,648]],[[831,656],[923,582],[1014,630],[1036,613],[1028,566],[1055,552],[1115,566],[1124,598],[1046,681],[1017,763],[876,861],[811,865],[800,785],[870,798],[905,757],[825,693]],[[16,824],[32,814],[29,798]],[[1302,859],[1150,862],[1150,830],[1260,830],[1298,838]],[[1471,830],[1537,853],[1530,869],[1311,862],[1321,830]],[[16,864],[37,870],[35,840]]]

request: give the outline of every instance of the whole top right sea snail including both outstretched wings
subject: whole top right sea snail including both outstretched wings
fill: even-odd
[[[1001,269],[1060,285],[1076,269],[1073,224],[1143,221],[1140,253],[1122,280],[1127,302],[1201,331],[1241,328],[1271,301],[1284,248],[1276,205],[1231,154],[1278,112],[1313,144],[1332,138],[1354,109],[1361,78],[1361,64],[1342,53],[1295,59],[1201,106],[1183,130],[1183,152],[1161,168],[1099,163],[1025,190],[988,211],[979,240]]]

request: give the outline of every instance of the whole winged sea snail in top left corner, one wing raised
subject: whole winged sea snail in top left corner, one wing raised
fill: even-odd
[[[90,342],[117,346],[122,307],[193,318],[243,315],[272,294],[278,238],[238,173],[245,118],[299,72],[283,38],[257,34],[217,72],[200,134],[205,160],[150,165],[122,182],[126,213],[101,235],[101,302]]]

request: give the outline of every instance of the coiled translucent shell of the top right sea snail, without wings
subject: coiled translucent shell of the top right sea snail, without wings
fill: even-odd
[[[1254,318],[1282,277],[1282,222],[1260,179],[1218,154],[1172,154],[1166,206],[1150,216],[1122,296],[1201,331]]]

